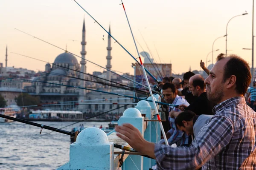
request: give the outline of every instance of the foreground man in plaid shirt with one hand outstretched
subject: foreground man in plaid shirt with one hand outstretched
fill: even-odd
[[[147,142],[134,126],[116,127],[117,136],[157,160],[159,170],[256,170],[256,113],[246,105],[250,67],[244,59],[220,54],[205,79],[207,98],[217,103],[189,147]]]

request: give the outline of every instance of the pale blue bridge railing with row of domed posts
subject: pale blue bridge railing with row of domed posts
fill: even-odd
[[[155,111],[151,108],[151,102],[138,102],[135,108],[124,111],[118,125],[130,123],[140,130],[147,141],[159,142],[160,126],[156,121]],[[86,128],[79,133],[76,142],[70,144],[70,161],[57,170],[118,170],[122,149],[114,148],[114,143],[130,147],[116,136],[114,130],[107,135],[97,127]],[[122,170],[148,170],[155,163],[154,159],[125,151]]]

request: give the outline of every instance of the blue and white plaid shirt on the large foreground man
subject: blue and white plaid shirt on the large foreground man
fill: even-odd
[[[221,102],[213,113],[189,147],[155,144],[158,170],[256,170],[256,113],[244,97]]]

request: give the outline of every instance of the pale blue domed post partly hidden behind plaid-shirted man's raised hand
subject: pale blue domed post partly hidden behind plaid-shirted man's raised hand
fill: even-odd
[[[141,116],[141,113],[136,108],[128,108],[124,111],[123,116],[118,120],[118,125],[122,125],[124,123],[130,123],[138,130],[140,133],[144,135],[144,117]],[[143,157],[140,155],[129,155],[127,159],[125,159],[122,167],[125,170],[143,170]]]

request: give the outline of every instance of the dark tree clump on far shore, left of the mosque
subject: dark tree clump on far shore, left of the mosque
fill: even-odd
[[[31,96],[30,94],[20,94],[15,98],[15,102],[18,106],[38,105],[40,100],[38,97]]]

